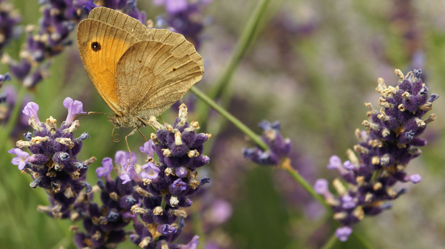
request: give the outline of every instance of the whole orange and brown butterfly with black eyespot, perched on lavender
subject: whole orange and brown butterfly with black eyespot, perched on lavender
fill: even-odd
[[[91,10],[79,24],[77,43],[92,85],[115,113],[108,121],[115,128],[133,128],[125,141],[204,73],[201,55],[183,35],[147,28],[110,8]]]

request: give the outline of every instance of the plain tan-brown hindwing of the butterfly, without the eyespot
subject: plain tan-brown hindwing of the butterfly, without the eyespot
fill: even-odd
[[[189,55],[175,56],[173,46],[152,40],[133,44],[118,62],[118,103],[143,119],[158,116],[202,78]]]

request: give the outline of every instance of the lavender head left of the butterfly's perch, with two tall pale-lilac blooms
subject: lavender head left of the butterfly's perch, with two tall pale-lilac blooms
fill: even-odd
[[[79,162],[77,154],[81,151],[82,141],[74,139],[74,130],[79,127],[79,121],[63,122],[56,127],[56,119],[49,117],[45,123],[38,119],[38,105],[28,103],[23,110],[29,116],[29,124],[34,132],[24,135],[24,140],[17,141],[17,147],[9,153],[17,155],[12,163],[19,166],[24,173],[29,173],[35,189],[42,187],[49,194],[51,205],[39,207],[54,218],[70,218],[72,205],[76,202],[82,189],[91,191],[91,185],[86,180],[87,162]],[[21,150],[28,147],[33,155]]]

